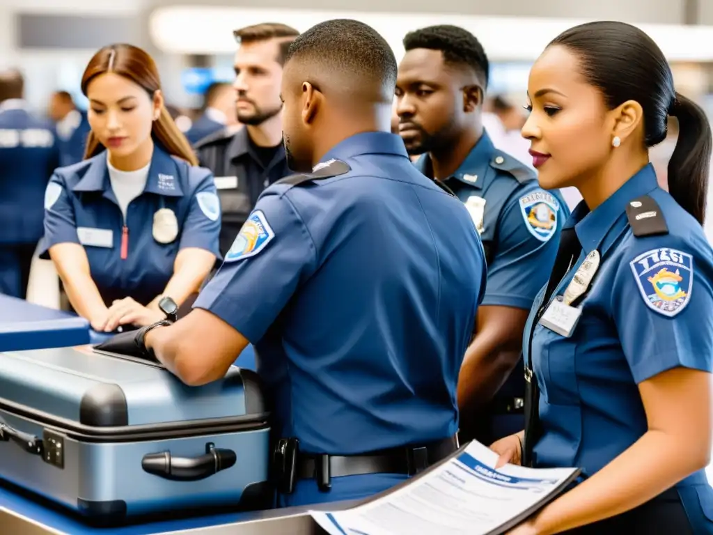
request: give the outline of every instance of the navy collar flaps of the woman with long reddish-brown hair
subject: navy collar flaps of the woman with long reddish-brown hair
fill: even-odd
[[[177,175],[178,167],[173,158],[155,144],[151,166],[143,193],[155,193],[165,197],[183,197],[183,190]],[[106,151],[91,158],[91,164],[83,178],[72,188],[73,191],[111,191],[109,170],[106,165]]]

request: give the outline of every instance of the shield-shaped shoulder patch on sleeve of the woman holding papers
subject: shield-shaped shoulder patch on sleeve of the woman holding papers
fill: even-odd
[[[629,265],[651,310],[674,317],[686,307],[693,287],[692,255],[670,248],[652,249]]]

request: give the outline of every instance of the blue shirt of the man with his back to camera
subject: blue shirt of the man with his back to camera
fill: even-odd
[[[315,170],[332,159],[351,170],[262,193],[195,307],[255,345],[274,430],[303,452],[452,436],[486,277],[471,218],[399,136],[352,136]]]

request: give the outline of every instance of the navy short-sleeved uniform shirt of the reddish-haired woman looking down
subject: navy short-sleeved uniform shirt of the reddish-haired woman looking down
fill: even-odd
[[[60,168],[45,194],[41,258],[58,243],[83,245],[91,276],[107,305],[133,297],[148,305],[173,276],[178,251],[219,256],[220,203],[209,170],[155,147],[143,193],[126,220],[111,189],[106,152]]]

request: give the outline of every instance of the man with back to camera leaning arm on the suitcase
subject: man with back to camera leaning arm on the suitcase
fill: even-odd
[[[281,506],[368,496],[456,448],[484,252],[463,203],[390,133],[395,83],[389,44],[361,22],[297,38],[284,139],[304,174],[262,193],[190,314],[131,341],[188,384],[255,345]]]

